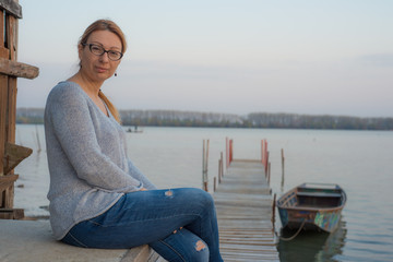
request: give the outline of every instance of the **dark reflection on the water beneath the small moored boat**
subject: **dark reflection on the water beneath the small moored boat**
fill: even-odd
[[[285,238],[293,236],[296,230],[282,229]],[[294,240],[278,242],[279,260],[288,261],[340,261],[335,258],[343,253],[347,229],[345,221],[341,221],[338,228],[332,233],[301,231]]]

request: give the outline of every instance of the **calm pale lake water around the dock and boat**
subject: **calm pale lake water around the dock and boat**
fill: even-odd
[[[305,181],[341,184],[348,201],[340,228],[331,235],[300,234],[290,242],[281,241],[282,261],[392,261],[393,132],[206,128],[144,128],[143,131],[128,133],[129,155],[159,188],[201,188],[202,141],[210,139],[212,189],[226,136],[234,139],[235,158],[260,158],[260,141],[267,139],[271,187],[277,196]],[[32,147],[34,153],[15,169],[20,174],[15,207],[25,209],[27,216],[48,216],[49,181],[43,126],[17,126],[16,143]],[[278,231],[279,227],[278,219]]]

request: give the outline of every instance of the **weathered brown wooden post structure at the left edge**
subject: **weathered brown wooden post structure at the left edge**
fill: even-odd
[[[38,68],[17,62],[17,0],[0,0],[0,218],[22,218],[23,210],[13,209],[13,168],[32,154],[15,145],[16,79],[35,79]]]

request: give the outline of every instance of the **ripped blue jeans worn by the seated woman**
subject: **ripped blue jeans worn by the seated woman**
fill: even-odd
[[[193,188],[127,193],[104,214],[72,227],[61,241],[105,249],[148,243],[167,261],[223,261],[214,201]]]

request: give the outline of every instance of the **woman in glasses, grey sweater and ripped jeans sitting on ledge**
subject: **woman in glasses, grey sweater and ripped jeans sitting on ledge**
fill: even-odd
[[[119,114],[100,91],[126,49],[114,22],[94,22],[78,45],[79,72],[48,96],[53,235],[84,248],[148,243],[168,261],[223,261],[211,195],[200,189],[157,190],[127,157]]]

